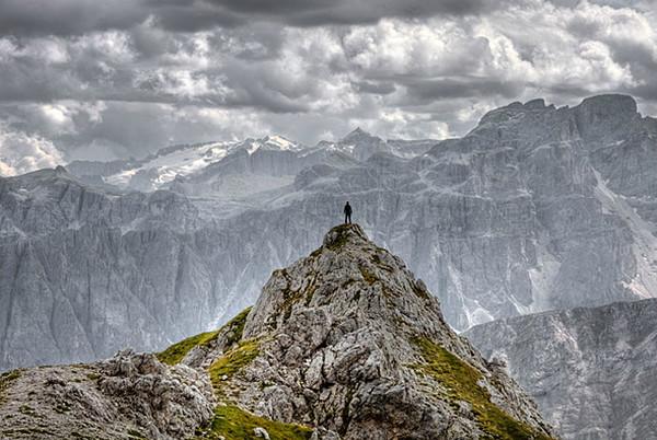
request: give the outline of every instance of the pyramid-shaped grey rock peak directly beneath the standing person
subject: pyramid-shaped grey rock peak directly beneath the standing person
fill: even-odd
[[[516,433],[550,436],[515,382],[356,224],[332,229],[309,257],[272,275],[237,345],[195,349],[183,362],[209,366],[222,400],[335,438],[514,438],[503,418]]]

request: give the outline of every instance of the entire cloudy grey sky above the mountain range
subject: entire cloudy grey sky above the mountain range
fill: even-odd
[[[545,97],[657,114],[653,0],[0,0],[0,174],[360,126],[446,138]]]

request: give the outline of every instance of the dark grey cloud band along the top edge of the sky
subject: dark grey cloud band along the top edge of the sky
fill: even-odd
[[[3,0],[0,35],[81,35],[128,30],[153,18],[174,32],[234,27],[255,20],[295,26],[374,23],[383,18],[481,14],[497,0]]]

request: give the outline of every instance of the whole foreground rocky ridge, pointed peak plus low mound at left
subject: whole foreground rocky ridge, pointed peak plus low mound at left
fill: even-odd
[[[359,225],[158,355],[14,370],[0,438],[549,439],[535,405]]]

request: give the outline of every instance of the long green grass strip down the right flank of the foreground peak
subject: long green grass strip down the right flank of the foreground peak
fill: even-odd
[[[531,426],[516,420],[491,402],[488,391],[477,384],[482,373],[470,363],[428,338],[416,338],[415,344],[426,363],[413,367],[440,382],[447,390],[447,397],[452,402],[468,402],[481,429],[491,439],[551,439]]]

